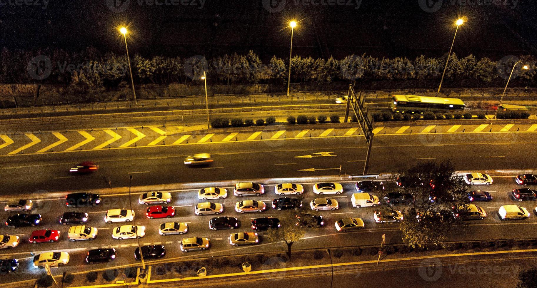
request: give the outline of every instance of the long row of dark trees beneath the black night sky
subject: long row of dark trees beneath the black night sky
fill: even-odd
[[[49,83],[70,85],[89,92],[128,85],[128,64],[125,55],[101,54],[93,48],[80,53],[44,49],[38,51],[9,51],[0,55],[0,83]],[[372,82],[375,80],[438,81],[444,70],[447,55],[439,58],[419,56],[377,58],[369,55],[349,55],[337,60],[330,57],[314,59],[294,56],[291,59],[293,83],[325,84],[330,82]],[[517,61],[529,65],[521,70],[517,80],[526,86],[537,85],[537,58],[525,55],[504,57],[498,62],[473,55],[449,58],[445,81],[500,85],[505,83],[512,65]],[[192,83],[200,81],[205,70],[211,84],[282,84],[287,82],[288,59],[273,56],[269,63],[249,51],[246,55],[224,55],[207,60],[203,56],[190,58],[155,56],[132,59],[136,84]]]

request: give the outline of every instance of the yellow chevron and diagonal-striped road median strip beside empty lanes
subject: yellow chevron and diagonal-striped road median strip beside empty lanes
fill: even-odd
[[[229,131],[183,131],[183,127],[154,125],[95,130],[54,132],[26,132],[0,134],[0,156],[76,151],[99,151],[166,145],[194,145],[210,143],[268,141],[279,143],[284,139],[359,137],[360,129],[346,128],[299,129],[293,126],[229,128]],[[263,130],[260,130],[263,129]],[[375,135],[409,135],[434,133],[511,133],[537,132],[537,124],[455,124],[455,125],[401,125],[379,126]],[[271,144],[268,144],[271,145]]]

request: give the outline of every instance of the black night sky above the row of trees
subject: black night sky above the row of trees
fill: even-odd
[[[129,50],[143,56],[214,57],[252,49],[266,61],[288,57],[286,26],[294,18],[298,55],[414,58],[447,53],[454,21],[466,16],[454,45],[458,56],[537,55],[535,0],[26,1],[32,5],[0,1],[0,46],[67,51],[92,46],[122,54],[115,27],[127,24]]]

